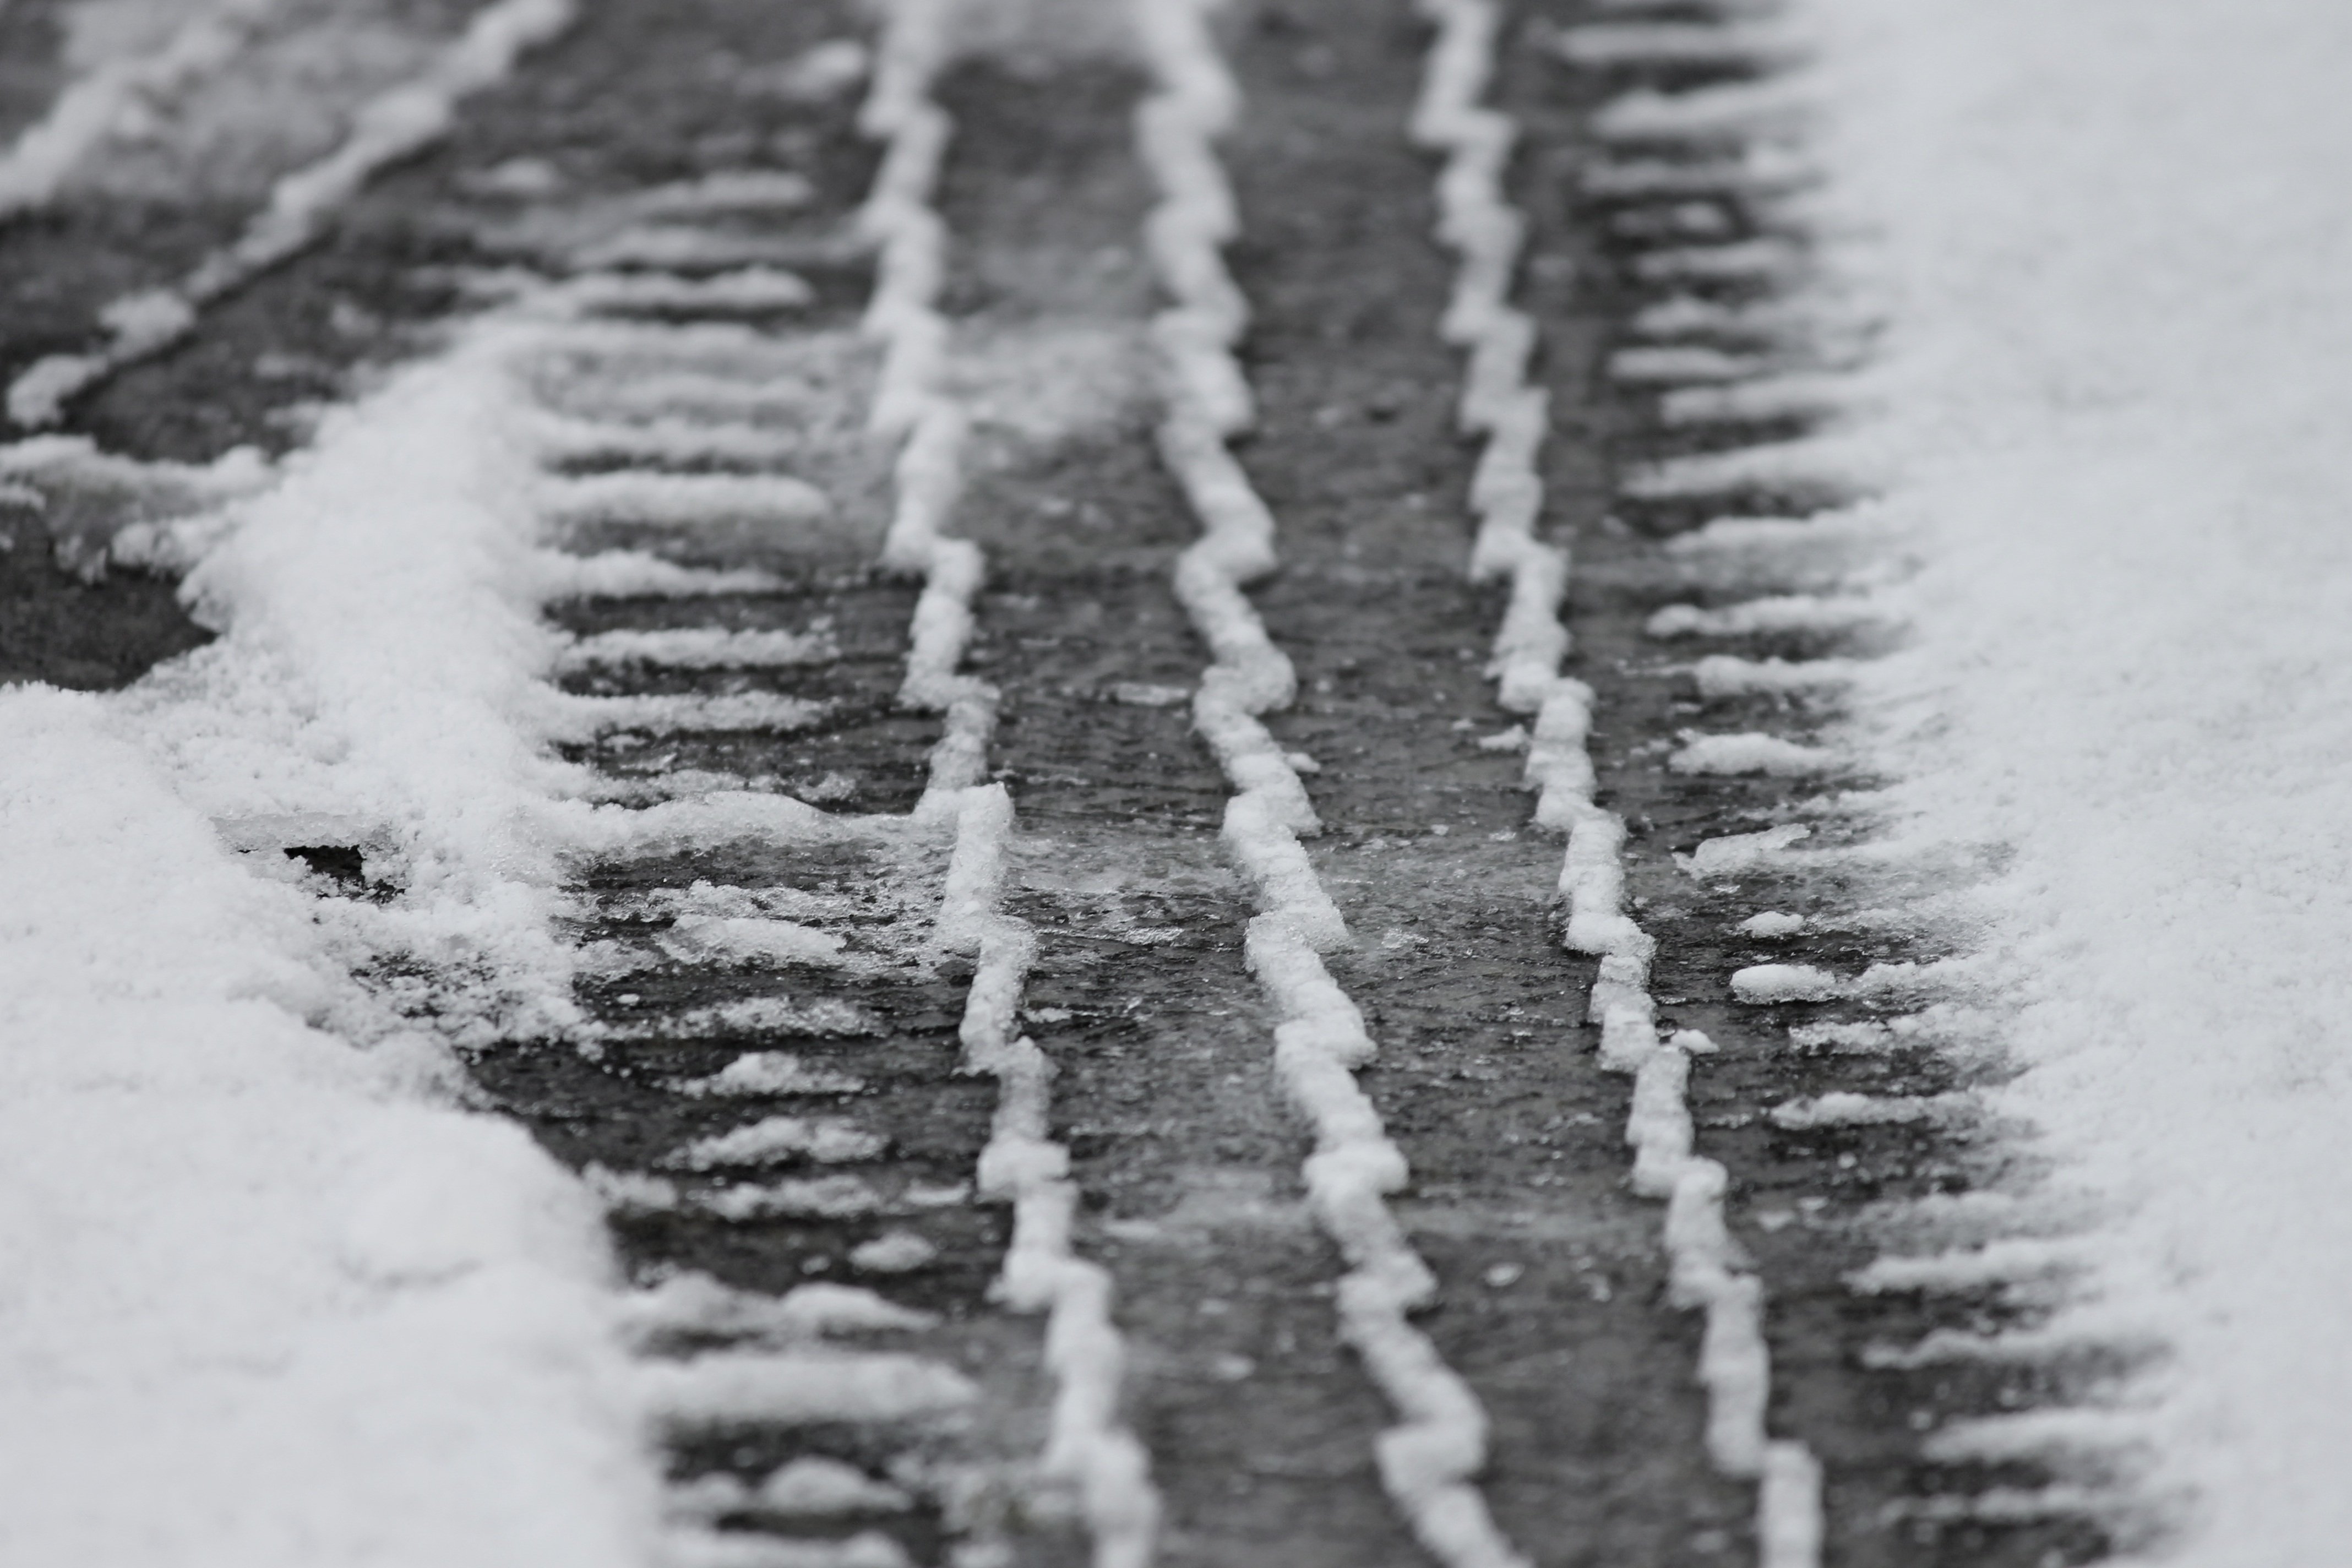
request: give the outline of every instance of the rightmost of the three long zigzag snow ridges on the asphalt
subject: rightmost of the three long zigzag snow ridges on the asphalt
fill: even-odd
[[[1816,1568],[1820,1561],[1820,1465],[1799,1441],[1771,1439],[1764,1408],[1771,1359],[1764,1342],[1764,1291],[1738,1267],[1724,1227],[1722,1164],[1691,1152],[1686,1100],[1691,1053],[1712,1051],[1696,1030],[1658,1039],[1649,994],[1656,943],[1623,910],[1625,825],[1592,802],[1585,750],[1592,689],[1559,675],[1569,632],[1559,621],[1569,557],[1536,538],[1543,482],[1536,454],[1545,433],[1545,393],[1526,383],[1536,327],[1515,310],[1510,280],[1524,219],[1503,197],[1515,125],[1479,108],[1494,73],[1501,9],[1491,0],[1421,0],[1437,24],[1414,106],[1414,141],[1446,153],[1437,176],[1437,237],[1461,256],[1442,336],[1470,353],[1461,425],[1484,435],[1470,508],[1477,515],[1472,578],[1510,578],[1510,609],[1496,635],[1489,675],[1501,703],[1536,715],[1526,785],[1536,823],[1564,827],[1569,849],[1559,889],[1569,898],[1566,945],[1599,957],[1590,1018],[1602,1025],[1602,1067],[1632,1072],[1625,1140],[1635,1147],[1635,1192],[1663,1197],[1670,1300],[1703,1307],[1698,1378],[1708,1389],[1708,1458],[1738,1479],[1757,1479],[1757,1542],[1764,1568]]]

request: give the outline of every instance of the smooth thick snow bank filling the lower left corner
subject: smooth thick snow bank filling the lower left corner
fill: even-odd
[[[0,693],[0,1559],[642,1561],[595,1204],[306,1025],[310,900],[122,729]]]

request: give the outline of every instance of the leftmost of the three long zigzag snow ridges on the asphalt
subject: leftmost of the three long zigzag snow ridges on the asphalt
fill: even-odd
[[[1145,1568],[1160,1533],[1160,1493],[1150,1481],[1150,1453],[1120,1420],[1127,1345],[1110,1319],[1112,1284],[1101,1265],[1070,1251],[1080,1194],[1070,1150],[1049,1131],[1054,1063],[1018,1030],[1037,938],[997,907],[1014,832],[1011,795],[988,783],[997,691],[957,672],[971,639],[971,597],[985,576],[981,548],[941,531],[962,487],[964,414],[938,393],[950,329],[934,306],[946,270],[946,223],[931,207],[931,190],[953,122],[929,92],[948,59],[946,24],[957,2],[891,5],[873,89],[858,113],[861,129],[887,141],[858,214],[863,233],[880,244],[866,308],[866,331],[884,343],[870,428],[901,442],[882,564],[922,574],[898,701],[946,715],[915,820],[955,823],[934,940],[941,952],[976,961],[957,1037],[964,1067],[997,1079],[997,1110],[978,1161],[978,1190],[1014,1206],[997,1288],[1014,1312],[1047,1314],[1054,1415],[1040,1472],[1077,1488],[1094,1568]]]

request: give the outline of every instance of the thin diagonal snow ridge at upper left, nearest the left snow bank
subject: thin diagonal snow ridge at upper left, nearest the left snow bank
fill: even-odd
[[[21,371],[7,388],[7,416],[26,428],[54,425],[68,400],[186,339],[205,306],[313,244],[376,172],[437,141],[459,99],[506,78],[524,49],[562,33],[572,16],[574,0],[496,0],[477,12],[423,75],[362,103],[336,150],[280,176],[235,244],[176,284],[108,303],[99,313],[103,348],[47,355]]]

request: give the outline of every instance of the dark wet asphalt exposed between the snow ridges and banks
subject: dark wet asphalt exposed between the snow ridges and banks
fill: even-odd
[[[466,9],[348,7],[348,38],[301,7],[266,26],[299,24],[327,40],[325,59],[358,59],[379,12],[433,33]],[[1651,9],[1715,24],[1700,5]],[[64,12],[16,0],[0,16],[0,136],[66,82]],[[1736,160],[1736,129],[1644,143],[1595,125],[1628,89],[1755,80],[1764,66],[1738,52],[1571,59],[1559,38],[1581,21],[1569,5],[1508,7],[1486,92],[1517,122],[1505,188],[1526,230],[1512,301],[1536,327],[1531,374],[1550,397],[1538,534],[1573,562],[1564,672],[1592,689],[1592,799],[1625,823],[1625,905],[1656,938],[1658,1027],[1712,1041],[1691,1058],[1686,1098],[1698,1152],[1729,1173],[1733,1255],[1762,1286],[1764,1425],[1823,1467],[1818,1561],[2093,1561],[2112,1547],[2093,1519],[2002,1505],[2049,1472],[1940,1458],[1933,1436],[2119,1366],[1936,1349],[2030,1324],[2044,1300],[2032,1281],[1853,1284],[1889,1248],[1999,1237],[1971,1232],[1976,1211],[1957,1201],[2027,1175],[1966,1103],[1999,1072],[1997,1041],[1905,1027],[1933,1020],[1933,987],[1903,978],[1919,971],[1825,999],[1740,999],[1731,985],[1755,964],[1926,964],[1952,938],[1889,903],[1865,853],[1816,858],[1832,870],[1804,879],[1757,842],[1691,858],[1773,827],[1867,849],[1867,809],[1842,792],[1870,780],[1806,762],[1835,752],[1712,771],[1684,731],[1813,748],[1835,731],[1835,686],[1769,691],[1736,672],[1703,684],[1698,661],[1867,656],[1872,628],[1708,618],[1818,585],[1788,552],[1675,543],[1717,517],[1799,517],[1820,501],[1802,484],[1628,477],[1804,433],[1802,404],[1686,418],[1686,400],[1675,414],[1675,395],[1719,378],[1710,353],[1802,369],[1844,346],[1771,324],[1771,266],[1689,266],[1750,242],[1785,242],[1802,266],[1783,190],[1708,174]],[[946,230],[943,386],[969,416],[946,531],[985,562],[960,661],[995,691],[971,783],[1002,783],[1014,811],[1000,912],[1035,940],[1018,1027],[1054,1070],[1049,1133],[1077,1194],[1070,1251],[1108,1272],[1127,1347],[1117,1425],[1162,1500],[1157,1561],[1428,1563],[1383,1488],[1376,1439],[1397,1418],[1341,1331],[1350,1262],[1303,1187],[1310,1131],[1275,1056],[1282,1013],[1244,952],[1261,905],[1221,835],[1228,771],[1195,726],[1216,654],[1174,585],[1202,524],[1155,442],[1150,322],[1169,289],[1143,233],[1164,190],[1136,146],[1152,68],[1108,5],[995,7],[957,38],[929,82],[953,120],[929,205]],[[955,1420],[680,1420],[682,1507],[743,1549],[880,1533],[920,1563],[1080,1563],[1098,1521],[1070,1486],[1033,1474],[1056,1394],[1044,1319],[997,1286],[1014,1211],[976,1185],[1002,1084],[957,1044],[976,973],[976,952],[941,936],[957,823],[922,809],[950,715],[901,691],[922,578],[880,562],[896,449],[866,418],[877,244],[856,226],[884,150],[858,125],[875,40],[877,19],[847,0],[586,5],[315,242],[73,397],[49,435],[143,463],[212,463],[240,444],[275,456],[308,440],[322,404],[442,353],[501,289],[694,284],[743,268],[807,284],[793,299],[680,287],[621,301],[600,317],[614,331],[548,350],[532,386],[579,430],[557,473],[659,480],[597,491],[567,548],[771,574],[741,592],[557,602],[560,628],[786,635],[760,656],[743,651],[755,639],[722,639],[708,646],[731,654],[699,661],[600,644],[621,651],[569,668],[572,691],[673,701],[623,703],[614,712],[644,717],[567,741],[567,755],[612,799],[689,799],[722,780],[816,804],[842,830],[781,846],[689,832],[579,865],[567,936],[593,954],[579,980],[602,1025],[593,1046],[513,1030],[466,1001],[461,978],[379,980],[407,987],[419,1016],[463,1025],[487,1098],[612,1194],[635,1279],[701,1272],[760,1298],[863,1286],[922,1316],[861,1345],[953,1366],[978,1389]],[[1482,447],[1456,421],[1465,355],[1439,334],[1458,256],[1435,233],[1442,158],[1409,136],[1430,21],[1404,0],[1268,0],[1228,7],[1216,40],[1242,101],[1216,150],[1240,214],[1223,259],[1249,306],[1237,360],[1256,393],[1232,454],[1279,552],[1247,595],[1296,670],[1296,698],[1263,724],[1319,818],[1305,863],[1350,931],[1324,964],[1378,1046],[1357,1084],[1411,1166],[1388,1199],[1435,1276],[1411,1321],[1484,1408],[1477,1490],[1529,1561],[1757,1561],[1757,1483],[1710,1458],[1708,1314],[1677,1305],[1668,1206],[1630,1180],[1635,1079],[1599,1063],[1597,961],[1564,943],[1562,839],[1531,820],[1522,783],[1529,715],[1498,705],[1486,668],[1505,585],[1468,574]],[[303,150],[221,136],[242,150],[214,179],[174,176],[167,150],[141,143],[99,158],[113,174],[0,226],[0,376],[87,350],[108,301],[186,277]],[[1689,179],[1611,179],[1661,165]],[[771,183],[701,207],[663,195],[713,176]],[[1658,310],[1677,301],[1682,324]],[[746,428],[764,440],[729,435]],[[677,475],[793,475],[823,491],[826,512],[774,524],[743,501],[727,527],[680,531],[633,501],[670,494],[661,484]],[[108,534],[151,505],[139,484],[87,475],[40,508],[0,505],[14,541],[0,555],[0,677],[122,686],[205,639],[167,574],[103,562]],[[1830,555],[1818,571],[1846,564]],[[1696,611],[1658,618],[1670,607]],[[746,703],[724,717],[710,698]],[[400,896],[353,846],[301,849],[339,879],[332,896]],[[1762,912],[1804,922],[1743,929]],[[793,922],[809,947],[746,952],[729,919]],[[713,1088],[729,1065],[743,1093]],[[1903,1110],[1835,1114],[1823,1095]],[[797,1143],[717,1145],[762,1117],[797,1119]],[[682,1147],[720,1152],[682,1161]],[[647,1354],[713,1342],[708,1324],[687,1324]],[[811,1455],[856,1467],[868,1500],[795,1514],[727,1490],[724,1476],[755,1483]]]

